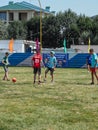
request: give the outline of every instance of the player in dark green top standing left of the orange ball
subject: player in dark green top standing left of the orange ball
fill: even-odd
[[[2,59],[2,64],[3,64],[3,68],[4,68],[4,72],[5,72],[3,80],[7,80],[7,81],[9,81],[9,78],[8,78],[8,65],[9,65],[8,55],[9,55],[9,53],[6,52],[5,56]]]

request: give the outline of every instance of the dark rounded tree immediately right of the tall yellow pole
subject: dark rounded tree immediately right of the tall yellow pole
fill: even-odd
[[[59,31],[57,18],[53,15],[43,19],[43,47],[59,47]]]

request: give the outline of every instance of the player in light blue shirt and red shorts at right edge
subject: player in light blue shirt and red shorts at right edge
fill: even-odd
[[[92,77],[92,82],[91,84],[94,84],[94,75],[97,79],[98,82],[98,76],[97,76],[97,69],[98,69],[98,56],[96,53],[94,53],[93,49],[89,50],[90,54],[91,54],[91,65],[90,65],[90,71],[91,71],[91,77]]]

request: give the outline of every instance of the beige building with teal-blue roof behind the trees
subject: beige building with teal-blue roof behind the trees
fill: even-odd
[[[40,15],[40,11],[42,12],[42,17],[54,12],[50,11],[49,6],[43,9],[25,1],[16,3],[9,1],[8,5],[0,7],[0,20],[7,24],[13,21],[28,21],[34,16]]]

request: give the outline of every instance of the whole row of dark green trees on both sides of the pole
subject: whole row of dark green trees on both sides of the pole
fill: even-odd
[[[63,40],[66,38],[67,47],[72,44],[88,44],[88,37],[91,44],[98,44],[98,16],[87,17],[77,15],[71,9],[65,12],[58,12],[56,15],[49,15],[42,18],[42,47],[56,48],[63,47]],[[34,17],[27,22],[14,21],[8,28],[0,22],[1,39],[40,39],[40,17]]]

